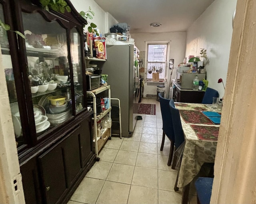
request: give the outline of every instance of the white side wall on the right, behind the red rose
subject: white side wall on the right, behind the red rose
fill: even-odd
[[[186,56],[200,56],[200,48],[207,49],[208,86],[218,90],[220,98],[224,96],[224,87],[218,79],[226,84],[235,8],[236,0],[215,0],[187,31]]]

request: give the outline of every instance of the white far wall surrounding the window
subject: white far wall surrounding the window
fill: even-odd
[[[186,32],[172,32],[172,33],[139,33],[131,34],[131,37],[134,38],[135,45],[140,51],[146,51],[146,41],[170,41],[170,53],[169,59],[174,59],[174,67],[177,67],[178,64],[183,62],[184,53],[186,47]],[[146,62],[146,59],[143,59]],[[169,65],[168,65],[169,66]],[[146,71],[146,70],[145,70]],[[165,84],[165,97],[168,96],[168,87],[170,83],[170,72],[168,69],[167,81]],[[176,69],[172,73],[172,78],[175,78]],[[144,89],[146,89],[145,87]],[[152,93],[156,94],[156,88],[152,89]]]

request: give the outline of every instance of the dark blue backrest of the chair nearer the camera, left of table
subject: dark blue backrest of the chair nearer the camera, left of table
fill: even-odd
[[[172,125],[175,137],[175,147],[178,148],[184,142],[184,133],[180,121],[180,112],[175,108],[174,100],[171,99],[169,102],[169,108],[172,115]]]

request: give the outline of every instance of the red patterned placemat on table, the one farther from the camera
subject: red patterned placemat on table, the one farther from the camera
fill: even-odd
[[[208,124],[212,122],[199,110],[180,110],[180,115],[186,123]]]

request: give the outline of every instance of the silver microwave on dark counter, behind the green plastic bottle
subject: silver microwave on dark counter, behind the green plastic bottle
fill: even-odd
[[[194,78],[198,77],[200,81],[205,78],[205,74],[199,73],[182,73],[180,76],[180,82],[177,82],[180,85],[181,89],[193,89],[193,80]]]

